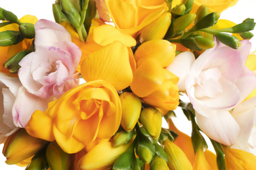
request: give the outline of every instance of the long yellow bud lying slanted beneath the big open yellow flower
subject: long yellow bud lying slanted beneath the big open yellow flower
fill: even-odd
[[[78,163],[82,170],[110,169],[115,161],[133,143],[135,136],[127,144],[115,148],[111,142],[102,142],[92,148]]]

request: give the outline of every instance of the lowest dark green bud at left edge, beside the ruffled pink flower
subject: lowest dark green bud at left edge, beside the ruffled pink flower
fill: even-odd
[[[20,63],[22,58],[28,54],[30,54],[30,51],[28,50],[23,50],[18,54],[15,54],[11,58],[7,59],[7,61],[5,61],[3,67],[9,69],[10,73],[18,73],[18,69],[20,69],[20,65],[18,65],[18,63]]]

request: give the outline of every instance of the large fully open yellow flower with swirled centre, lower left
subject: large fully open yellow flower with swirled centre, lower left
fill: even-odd
[[[103,80],[81,84],[36,110],[26,130],[33,137],[54,141],[75,153],[96,139],[110,139],[121,122],[121,103],[115,88]]]

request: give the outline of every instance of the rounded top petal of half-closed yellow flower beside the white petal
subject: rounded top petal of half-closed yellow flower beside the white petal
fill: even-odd
[[[136,50],[134,58],[138,67],[148,58],[155,58],[161,64],[161,67],[167,67],[175,58],[175,50],[176,46],[171,42],[156,39],[142,43]]]

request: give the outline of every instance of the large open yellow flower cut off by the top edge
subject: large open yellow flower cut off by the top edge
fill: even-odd
[[[105,3],[117,29],[133,37],[137,37],[140,29],[159,18],[168,9],[164,0],[106,0]]]

